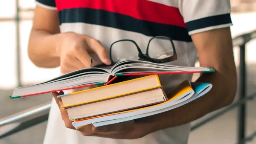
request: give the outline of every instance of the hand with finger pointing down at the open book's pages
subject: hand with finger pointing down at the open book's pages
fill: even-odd
[[[93,53],[96,53],[106,65],[111,64],[108,52],[99,40],[73,32],[62,34],[56,46],[56,53],[60,57],[60,68],[63,74],[90,67],[90,60],[93,59],[90,54]],[[93,66],[99,63],[93,60]]]

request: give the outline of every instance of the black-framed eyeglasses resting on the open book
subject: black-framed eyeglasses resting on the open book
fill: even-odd
[[[167,63],[177,60],[174,43],[170,37],[166,36],[152,37],[148,41],[145,54],[134,40],[129,39],[112,43],[109,54],[111,66],[123,60],[145,60],[153,63]],[[112,56],[113,54],[115,57]],[[99,65],[95,67],[99,67]]]

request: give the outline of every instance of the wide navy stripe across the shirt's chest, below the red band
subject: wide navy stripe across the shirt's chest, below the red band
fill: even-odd
[[[99,9],[64,9],[59,12],[60,23],[90,23],[108,26],[154,37],[158,35],[171,37],[173,40],[191,42],[188,30],[179,26],[138,20],[123,14]]]

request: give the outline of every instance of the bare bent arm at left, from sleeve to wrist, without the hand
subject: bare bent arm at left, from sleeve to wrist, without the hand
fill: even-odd
[[[29,37],[28,55],[38,67],[60,66],[60,57],[55,51],[61,35],[56,10],[35,7],[33,26]]]

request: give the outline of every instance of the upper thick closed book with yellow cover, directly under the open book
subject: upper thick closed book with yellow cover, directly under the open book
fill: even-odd
[[[61,98],[63,102],[62,107],[67,109],[70,107],[125,97],[127,95],[146,92],[160,87],[161,84],[158,75],[149,75],[106,86],[58,95],[58,98]]]

